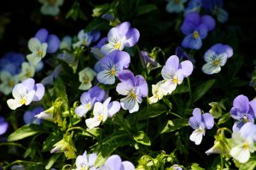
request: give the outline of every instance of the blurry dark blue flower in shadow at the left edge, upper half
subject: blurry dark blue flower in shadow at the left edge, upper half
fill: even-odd
[[[9,71],[11,75],[20,73],[21,63],[25,61],[23,54],[9,52],[0,59],[0,71]]]

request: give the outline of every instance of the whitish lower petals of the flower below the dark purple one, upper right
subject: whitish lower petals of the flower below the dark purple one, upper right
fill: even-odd
[[[227,54],[216,54],[214,51],[209,49],[207,53],[204,55],[204,59],[207,64],[203,65],[201,70],[206,74],[214,74],[218,73],[221,70],[220,66],[225,65],[227,62]]]

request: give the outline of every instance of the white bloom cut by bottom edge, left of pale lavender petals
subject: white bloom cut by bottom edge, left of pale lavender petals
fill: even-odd
[[[85,150],[84,154],[82,156],[78,156],[76,159],[76,170],[89,170],[90,167],[93,167],[96,158],[97,155],[95,153],[87,155],[87,152]]]

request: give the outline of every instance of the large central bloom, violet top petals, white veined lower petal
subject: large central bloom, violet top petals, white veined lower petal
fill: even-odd
[[[116,91],[126,96],[120,100],[122,108],[130,113],[138,111],[138,104],[142,103],[143,97],[148,95],[148,83],[143,76],[137,75],[135,77],[128,70],[119,72],[119,81]]]

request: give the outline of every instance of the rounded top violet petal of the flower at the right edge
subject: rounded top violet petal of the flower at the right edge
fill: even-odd
[[[234,99],[233,106],[242,113],[247,113],[249,111],[249,99],[241,94]]]

